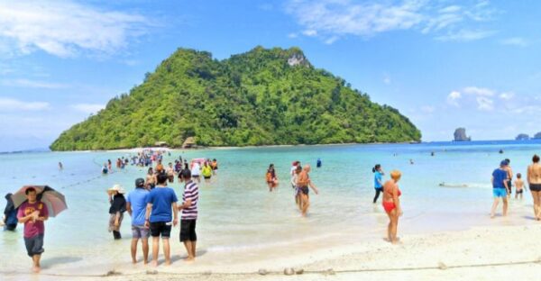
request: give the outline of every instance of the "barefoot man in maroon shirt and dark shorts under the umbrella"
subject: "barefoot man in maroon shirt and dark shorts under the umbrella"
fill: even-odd
[[[28,187],[24,191],[27,202],[19,206],[17,219],[19,223],[24,223],[24,245],[28,256],[33,261],[33,271],[40,271],[40,259],[43,250],[43,235],[45,225],[43,222],[49,218],[49,210],[46,204],[37,200],[37,192],[33,187]]]

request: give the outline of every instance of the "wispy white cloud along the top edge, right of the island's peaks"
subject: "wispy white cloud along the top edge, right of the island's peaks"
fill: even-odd
[[[289,0],[286,10],[305,32],[310,31],[308,36],[317,35],[324,41],[333,36],[371,37],[399,30],[435,32],[440,41],[472,41],[495,33],[463,29],[467,23],[491,20],[496,11],[484,2],[460,6],[427,0]]]

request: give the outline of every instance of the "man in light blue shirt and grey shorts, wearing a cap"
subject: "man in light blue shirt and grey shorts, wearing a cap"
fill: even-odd
[[[137,263],[137,242],[142,242],[142,260],[144,264],[149,263],[149,236],[151,231],[144,226],[144,215],[146,213],[147,196],[149,191],[144,188],[144,179],[135,180],[135,189],[128,195],[126,211],[132,217],[132,262]]]

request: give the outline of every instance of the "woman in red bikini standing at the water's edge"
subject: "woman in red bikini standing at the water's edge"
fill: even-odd
[[[390,172],[390,180],[383,185],[383,209],[389,215],[389,226],[387,228],[387,239],[397,244],[397,229],[399,227],[399,216],[402,215],[399,196],[401,192],[397,184],[402,174],[398,170]]]

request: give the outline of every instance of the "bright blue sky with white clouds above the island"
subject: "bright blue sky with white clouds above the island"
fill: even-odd
[[[47,148],[178,48],[299,47],[423,141],[541,131],[541,2],[0,0],[0,151]]]

